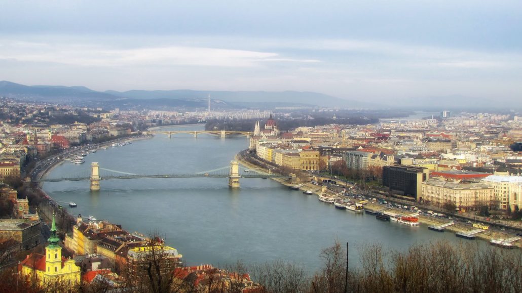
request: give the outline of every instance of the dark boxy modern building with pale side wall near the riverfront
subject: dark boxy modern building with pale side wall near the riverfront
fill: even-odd
[[[384,166],[383,185],[390,191],[416,201],[422,200],[422,181],[428,178],[428,169],[414,166]]]

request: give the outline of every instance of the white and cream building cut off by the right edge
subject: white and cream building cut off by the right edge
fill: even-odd
[[[515,211],[516,207],[522,209],[522,176],[491,175],[481,180],[494,188],[494,198],[498,202],[498,208],[507,211]]]

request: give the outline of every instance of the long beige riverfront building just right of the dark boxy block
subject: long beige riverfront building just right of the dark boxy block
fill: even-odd
[[[422,182],[422,200],[443,207],[453,202],[460,210],[475,210],[494,204],[494,188],[483,183],[460,183],[440,179]]]

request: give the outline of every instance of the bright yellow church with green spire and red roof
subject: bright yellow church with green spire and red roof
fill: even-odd
[[[80,267],[72,259],[62,257],[62,247],[58,245],[60,239],[56,236],[56,225],[51,227],[49,245],[45,248],[45,255],[31,253],[20,263],[20,273],[29,278],[37,278],[40,285],[60,282],[70,285],[80,284]]]

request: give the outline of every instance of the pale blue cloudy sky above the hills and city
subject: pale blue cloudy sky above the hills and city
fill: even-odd
[[[0,80],[509,103],[522,1],[0,0]]]

